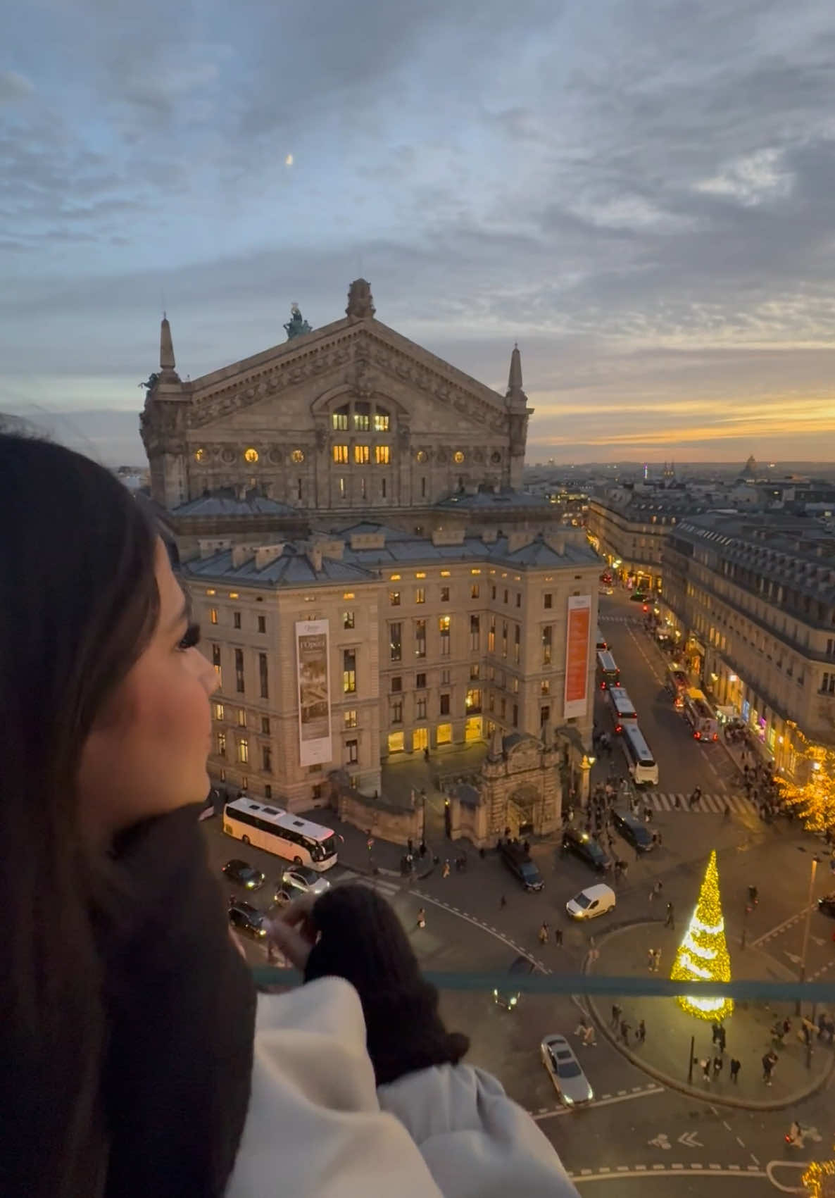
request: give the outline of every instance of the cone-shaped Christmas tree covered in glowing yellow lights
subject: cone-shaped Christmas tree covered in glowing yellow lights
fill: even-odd
[[[670,978],[672,981],[731,981],[731,958],[725,943],[715,849],[710,853],[698,902],[676,954]],[[733,1011],[733,999],[730,998],[692,998],[682,994],[676,1002],[700,1019],[721,1021]]]

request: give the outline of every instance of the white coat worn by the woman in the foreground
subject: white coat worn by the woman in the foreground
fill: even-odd
[[[509,1193],[577,1198],[545,1136],[494,1077],[442,1065],[376,1089],[346,981],[259,996],[252,1096],[226,1198]]]

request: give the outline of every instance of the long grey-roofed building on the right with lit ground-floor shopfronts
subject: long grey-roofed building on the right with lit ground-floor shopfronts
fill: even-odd
[[[664,607],[688,665],[794,775],[835,745],[835,539],[809,518],[714,513],[664,547]]]

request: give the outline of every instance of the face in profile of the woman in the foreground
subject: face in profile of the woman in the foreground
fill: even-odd
[[[157,627],[81,751],[83,823],[97,842],[139,819],[200,803],[208,793],[208,696],[217,678],[186,635],[188,609],[162,541],[155,573]]]

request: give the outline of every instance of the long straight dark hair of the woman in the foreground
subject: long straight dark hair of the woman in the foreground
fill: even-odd
[[[159,610],[151,521],[104,467],[0,432],[0,1192],[101,1191],[107,1028],[77,776]]]

